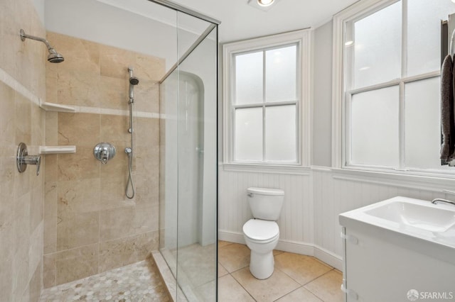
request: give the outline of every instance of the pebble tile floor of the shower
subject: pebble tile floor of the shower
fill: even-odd
[[[40,302],[62,301],[171,301],[151,260],[45,289]]]

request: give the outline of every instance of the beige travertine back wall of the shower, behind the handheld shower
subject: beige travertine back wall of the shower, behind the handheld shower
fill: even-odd
[[[46,100],[80,106],[79,113],[46,113],[47,145],[76,145],[75,154],[47,155],[44,286],[54,286],[141,261],[158,248],[159,84],[156,57],[48,33],[65,62],[46,69]],[[124,194],[130,145],[128,67],[134,67],[136,196]],[[92,155],[111,142],[117,155]]]

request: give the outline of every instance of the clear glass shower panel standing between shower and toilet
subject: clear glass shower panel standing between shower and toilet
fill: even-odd
[[[216,34],[208,26],[161,84],[160,252],[177,301],[216,301]]]

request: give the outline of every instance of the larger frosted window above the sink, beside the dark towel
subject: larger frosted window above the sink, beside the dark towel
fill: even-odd
[[[334,18],[338,167],[443,172],[441,20],[451,0],[365,1]],[[335,95],[336,94],[336,95]]]

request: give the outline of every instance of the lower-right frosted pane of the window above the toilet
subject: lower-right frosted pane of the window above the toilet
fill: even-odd
[[[265,109],[265,157],[272,161],[296,161],[296,106]]]

